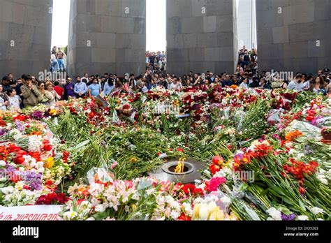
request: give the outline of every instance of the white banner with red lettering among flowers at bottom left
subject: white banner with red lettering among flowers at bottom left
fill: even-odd
[[[0,207],[0,221],[55,221],[59,220],[61,205]]]

